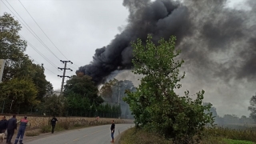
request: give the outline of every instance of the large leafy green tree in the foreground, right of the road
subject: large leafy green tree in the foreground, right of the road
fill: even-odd
[[[126,90],[128,95],[124,100],[130,105],[136,127],[163,134],[174,142],[190,143],[195,135],[196,140],[201,138],[204,126],[214,120],[211,113],[204,113],[210,110],[210,104],[202,103],[204,90],[197,93],[194,101],[189,91],[182,97],[174,92],[185,77],[185,73],[179,73],[184,61],[178,60],[180,51],[174,48],[175,40],[175,37],[168,41],[162,38],[155,46],[149,35],[145,44],[140,39],[132,42],[134,74],[144,77],[136,92]]]

